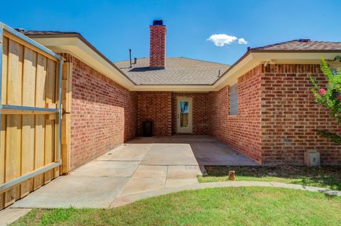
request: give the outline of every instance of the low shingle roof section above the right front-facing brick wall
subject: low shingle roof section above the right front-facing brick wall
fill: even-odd
[[[321,50],[341,50],[341,43],[310,41],[308,39],[291,40],[285,43],[276,43],[262,47],[251,48],[251,50],[301,50],[301,51],[321,51]]]

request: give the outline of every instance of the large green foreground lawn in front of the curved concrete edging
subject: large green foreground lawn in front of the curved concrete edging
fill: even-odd
[[[114,209],[32,210],[13,225],[340,225],[341,197],[287,188],[205,188]]]

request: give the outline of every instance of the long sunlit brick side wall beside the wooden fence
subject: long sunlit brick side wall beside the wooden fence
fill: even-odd
[[[71,169],[136,135],[137,94],[71,55]]]

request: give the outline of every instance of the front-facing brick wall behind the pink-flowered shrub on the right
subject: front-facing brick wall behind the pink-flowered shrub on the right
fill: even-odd
[[[320,65],[274,64],[261,70],[261,162],[303,164],[303,152],[318,149],[322,164],[341,164],[341,146],[315,132],[337,129],[328,109],[315,103],[310,92],[308,73],[325,83]]]

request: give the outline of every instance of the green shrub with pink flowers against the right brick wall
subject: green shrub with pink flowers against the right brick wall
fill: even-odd
[[[321,59],[321,70],[328,81],[325,87],[321,87],[316,79],[308,74],[310,81],[313,83],[311,91],[314,94],[315,101],[320,105],[330,109],[330,114],[336,118],[337,123],[341,125],[341,69],[332,70],[328,63]],[[341,126],[340,126],[341,127]],[[341,128],[338,132],[330,132],[327,130],[317,130],[320,135],[329,137],[337,144],[341,144]]]

